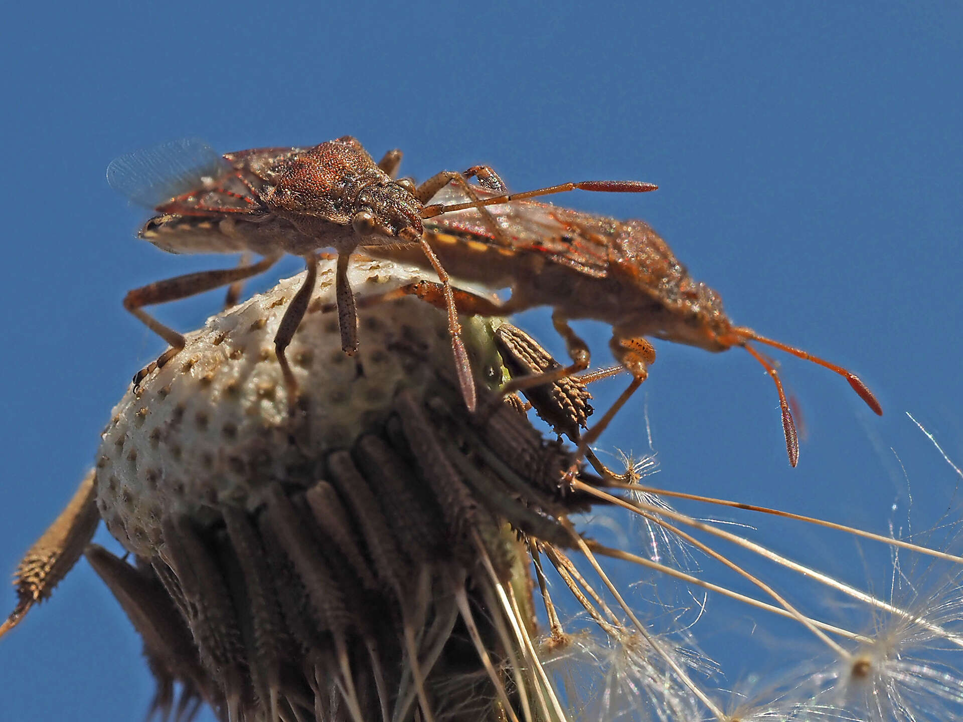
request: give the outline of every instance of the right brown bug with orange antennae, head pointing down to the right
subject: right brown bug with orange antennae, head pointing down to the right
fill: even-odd
[[[505,204],[504,183],[486,176],[484,186],[472,187],[471,202],[453,186],[432,200],[445,215],[425,222],[426,240],[441,264],[456,278],[489,288],[511,291],[503,302],[455,292],[463,313],[508,316],[534,306],[552,306],[552,322],[565,341],[572,363],[546,374],[509,382],[504,393],[580,374],[588,368],[589,349],[569,325],[570,319],[594,319],[612,324],[610,348],[617,367],[582,376],[585,381],[627,371],[632,382],[602,419],[582,435],[580,454],[599,437],[612,418],[638,390],[655,361],[646,337],[687,344],[709,351],[745,348],[775,382],[782,410],[790,464],[799,459],[798,436],[790,404],[774,363],[753,342],[779,348],[846,377],[872,410],[882,415],[879,401],[862,380],[841,366],[800,348],[774,341],[745,326],[735,325],[722,308],[719,295],[691,278],[686,267],[647,223],[616,220],[558,206],[520,200]],[[403,248],[372,248],[373,255],[422,261]],[[391,292],[413,294],[437,304],[437,284],[421,281]],[[388,297],[389,295],[385,295]],[[372,300],[372,299],[369,299]]]

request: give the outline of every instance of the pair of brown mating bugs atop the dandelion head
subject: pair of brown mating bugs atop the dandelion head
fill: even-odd
[[[646,336],[711,351],[745,348],[775,382],[790,463],[798,442],[789,403],[775,366],[749,342],[780,348],[846,376],[873,411],[882,413],[872,392],[846,369],[798,348],[734,325],[711,288],[694,281],[664,240],[640,220],[579,213],[527,200],[574,189],[608,192],[655,190],[638,182],[567,183],[528,193],[506,193],[486,167],[464,174],[443,171],[420,186],[393,180],[401,153],[391,151],[377,165],[352,138],[313,148],[267,148],[218,156],[198,142],[178,142],[157,151],[123,156],[108,168],[113,186],[135,200],[165,202],[161,215],[143,226],[141,237],[172,252],[250,250],[264,259],[228,271],[205,271],[160,281],[130,292],[125,307],[163,336],[171,349],[161,363],[183,348],[183,337],[155,321],[144,305],[187,297],[237,282],[269,268],[283,253],[305,258],[307,278],[292,299],[274,340],[289,396],[296,383],[284,356],[302,318],[315,281],[315,251],[338,252],[337,311],[342,345],[357,345],[354,300],[346,281],[351,252],[433,269],[440,283],[420,282],[380,300],[413,294],[448,311],[455,364],[466,404],[475,406],[468,357],[460,340],[457,313],[508,315],[538,305],[554,309],[553,322],[572,363],[508,385],[516,391],[585,371],[589,350],[569,319],[612,324],[610,348],[620,366],[591,378],[628,371],[629,387],[602,420],[580,440],[585,453],[615,413],[638,389],[655,360]],[[476,176],[481,185],[470,185]],[[434,202],[426,205],[429,200]],[[494,208],[489,208],[489,207]],[[511,297],[490,298],[453,291],[448,273],[489,288],[510,288]],[[135,383],[137,382],[135,378]]]

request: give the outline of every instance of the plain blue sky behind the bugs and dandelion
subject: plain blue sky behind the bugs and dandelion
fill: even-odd
[[[403,148],[403,172],[420,179],[485,163],[515,190],[658,183],[557,201],[648,220],[736,322],[851,367],[886,415],[843,379],[779,356],[808,429],[792,470],[775,391],[748,354],[661,343],[644,398],[601,446],[647,451],[644,403],[666,487],[882,532],[905,518],[907,478],[916,524],[958,505],[958,477],[904,412],[963,459],[959,6],[517,5],[6,11],[0,574],[60,510],[131,374],[163,348],[123,294],[223,261],[138,242],[143,216],[105,182],[117,155],[180,137],[235,150],[351,134],[376,157]],[[158,315],[186,330],[220,301]],[[522,324],[561,355],[547,319]],[[604,363],[606,329],[580,327]],[[598,405],[624,383],[600,384]],[[793,548],[794,531],[767,529]],[[97,541],[109,543],[103,529]],[[852,545],[819,543],[826,565],[865,578],[858,556],[834,556]],[[140,642],[86,562],[0,643],[0,669],[9,719],[137,718],[152,694]]]

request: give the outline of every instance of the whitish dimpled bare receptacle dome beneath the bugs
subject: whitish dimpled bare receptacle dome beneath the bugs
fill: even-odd
[[[445,315],[414,297],[360,310],[360,348],[347,355],[337,314],[321,313],[334,301],[334,273],[333,261],[319,266],[315,294],[287,350],[299,383],[293,416],[273,337],[303,273],[209,319],[143,379],[139,393],[129,391],[117,404],[97,455],[97,508],[128,551],[154,554],[164,515],[203,525],[222,503],[256,508],[274,482],[308,486],[325,451],[350,446],[387,416],[399,390],[420,395],[438,364],[451,365]],[[371,260],[349,271],[361,301],[421,275]],[[477,382],[498,383],[490,322],[465,318],[462,328]]]

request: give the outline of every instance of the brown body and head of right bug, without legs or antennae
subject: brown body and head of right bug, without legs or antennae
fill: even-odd
[[[557,317],[610,323],[620,339],[732,346],[720,340],[733,328],[721,298],[690,276],[648,223],[532,201],[495,206],[492,215],[510,245],[473,210],[429,219],[426,228],[450,273],[511,289],[506,311],[547,305]]]

